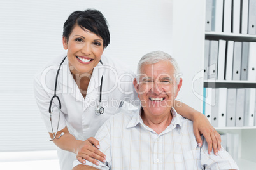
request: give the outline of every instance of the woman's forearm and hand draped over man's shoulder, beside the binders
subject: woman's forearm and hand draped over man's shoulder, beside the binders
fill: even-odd
[[[213,149],[214,154],[217,155],[218,150],[221,149],[220,134],[213,128],[213,126],[211,126],[206,116],[177,100],[174,100],[174,108],[178,114],[193,121],[194,135],[196,136],[198,145],[202,145],[200,134],[203,134],[208,143],[208,153],[210,154]]]

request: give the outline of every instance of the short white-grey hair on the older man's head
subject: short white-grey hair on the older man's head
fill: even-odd
[[[163,51],[152,51],[144,55],[141,60],[139,60],[137,67],[137,80],[139,81],[139,76],[141,75],[141,67],[143,65],[154,64],[160,61],[169,61],[174,67],[174,78],[176,78],[176,84],[178,85],[180,82],[180,69],[178,67],[178,63],[176,60],[171,57],[171,55],[164,53]]]

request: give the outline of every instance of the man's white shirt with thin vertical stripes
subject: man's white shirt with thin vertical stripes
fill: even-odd
[[[193,122],[174,108],[171,113],[171,124],[160,134],[143,123],[141,109],[110,117],[96,134],[106,162],[86,164],[97,169],[238,169],[224,148],[217,156],[209,155],[203,136],[203,146],[198,147]]]

